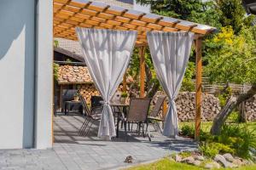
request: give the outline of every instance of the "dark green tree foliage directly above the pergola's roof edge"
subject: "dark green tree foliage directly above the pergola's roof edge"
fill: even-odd
[[[220,27],[219,14],[215,3],[203,3],[201,0],[137,0],[138,3],[150,4],[154,14],[165,15],[181,20],[190,20],[201,24]]]

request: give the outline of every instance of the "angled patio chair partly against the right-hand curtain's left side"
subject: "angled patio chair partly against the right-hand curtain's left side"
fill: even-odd
[[[164,104],[165,99],[166,99],[166,96],[160,95],[154,105],[154,108],[152,109],[152,111],[150,111],[148,116],[148,121],[152,123],[153,126],[156,124],[160,129],[160,133],[163,133],[163,132],[158,122],[164,122],[163,117],[160,116],[160,111],[161,111],[162,105]]]

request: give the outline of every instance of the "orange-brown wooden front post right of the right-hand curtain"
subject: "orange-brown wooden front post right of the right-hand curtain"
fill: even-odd
[[[201,77],[202,77],[202,39],[199,37],[195,40],[196,52],[196,73],[195,73],[195,139],[199,140],[201,128]]]

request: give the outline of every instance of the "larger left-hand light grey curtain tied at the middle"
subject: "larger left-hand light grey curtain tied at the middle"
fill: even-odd
[[[76,32],[90,75],[104,99],[98,137],[111,139],[116,132],[109,100],[129,65],[137,31],[76,28]]]

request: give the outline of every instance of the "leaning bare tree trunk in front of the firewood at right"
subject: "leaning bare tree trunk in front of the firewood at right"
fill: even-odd
[[[252,98],[254,94],[256,94],[256,83],[253,83],[252,88],[250,88],[246,94],[240,94],[238,97],[231,96],[224,108],[214,118],[211,133],[213,135],[219,134],[221,127],[227,120],[228,116],[230,116],[230,113],[243,101]]]

